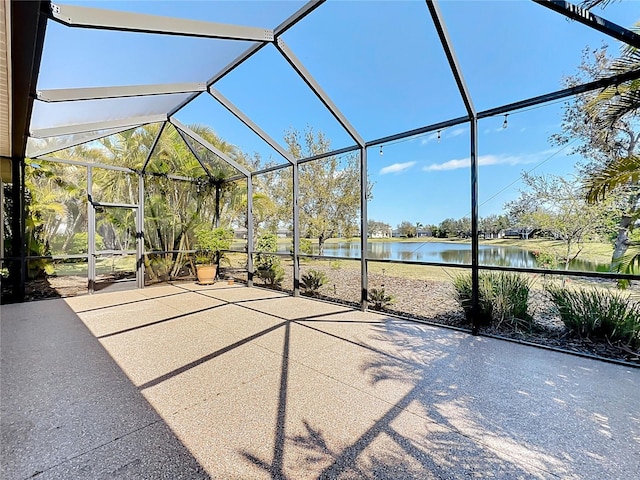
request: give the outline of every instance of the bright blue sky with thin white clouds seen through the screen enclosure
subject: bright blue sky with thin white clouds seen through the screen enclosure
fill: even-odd
[[[155,15],[275,27],[302,2],[74,2]],[[440,8],[477,111],[563,88],[585,47],[617,41],[530,1],[442,1]],[[640,2],[594,10],[622,26],[640,19]],[[465,115],[433,23],[422,1],[329,1],[283,40],[366,141]],[[50,23],[39,89],[204,82],[247,42],[70,29]],[[214,87],[274,139],[289,129],[324,132],[333,148],[354,144],[273,47],[268,46]],[[105,115],[162,113],[184,96],[38,105],[32,128],[94,121]],[[560,131],[564,102],[479,122],[480,216],[515,199],[523,171],[568,176],[579,158],[549,137]],[[285,163],[207,94],[176,114],[204,124],[263,164]],[[460,124],[368,151],[373,198],[369,219],[438,224],[469,215],[470,132]]]

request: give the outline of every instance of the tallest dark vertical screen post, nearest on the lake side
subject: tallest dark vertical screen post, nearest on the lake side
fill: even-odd
[[[480,302],[479,242],[478,237],[478,117],[474,114],[470,121],[471,131],[471,329],[478,334],[478,311]]]

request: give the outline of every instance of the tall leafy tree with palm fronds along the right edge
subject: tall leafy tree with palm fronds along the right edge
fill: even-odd
[[[565,83],[573,86],[639,67],[640,54],[634,48],[625,48],[617,59],[609,58],[606,47],[585,49],[578,73],[565,79]],[[577,141],[572,151],[586,160],[580,166],[580,174],[588,201],[607,199],[618,205],[613,270],[620,268],[633,244],[630,235],[640,216],[638,87],[640,82],[636,80],[575,97],[565,104],[562,132],[551,137],[557,145]]]

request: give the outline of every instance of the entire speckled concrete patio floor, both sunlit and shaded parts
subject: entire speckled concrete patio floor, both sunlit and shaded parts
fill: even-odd
[[[640,369],[221,283],[1,327],[6,480],[640,472]]]

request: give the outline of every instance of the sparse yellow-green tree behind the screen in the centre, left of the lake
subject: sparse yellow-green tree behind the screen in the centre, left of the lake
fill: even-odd
[[[289,152],[296,158],[307,158],[330,151],[331,142],[322,132],[312,128],[300,134],[291,129],[285,133]],[[329,156],[300,165],[299,226],[303,237],[317,238],[320,255],[328,238],[358,234],[360,225],[360,164],[357,155]],[[368,198],[371,186],[367,184]],[[282,182],[278,193],[281,205],[289,209],[292,188]],[[282,203],[284,200],[284,203]],[[291,218],[290,211],[282,218]]]

